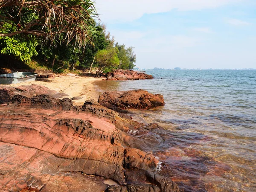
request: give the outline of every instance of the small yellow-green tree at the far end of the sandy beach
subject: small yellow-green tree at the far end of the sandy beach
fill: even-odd
[[[96,53],[95,62],[99,67],[96,74],[98,76],[102,71],[108,72],[118,67],[119,59],[116,52],[116,48],[108,47],[108,49],[99,50]]]

